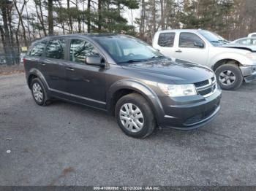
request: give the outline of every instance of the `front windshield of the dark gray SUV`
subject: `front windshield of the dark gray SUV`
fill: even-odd
[[[132,63],[164,57],[150,45],[129,36],[101,36],[95,40],[116,63]]]

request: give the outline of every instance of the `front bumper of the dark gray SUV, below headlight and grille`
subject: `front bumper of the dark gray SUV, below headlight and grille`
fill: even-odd
[[[202,125],[216,117],[220,109],[221,90],[203,98],[196,95],[187,101],[171,101],[170,98],[161,98],[164,106],[165,115],[158,123],[162,128],[175,128],[179,130],[191,130],[199,128]]]

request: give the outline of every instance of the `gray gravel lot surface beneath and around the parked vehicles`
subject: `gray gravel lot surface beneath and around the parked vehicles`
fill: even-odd
[[[253,82],[224,91],[202,128],[132,139],[104,112],[37,106],[24,74],[0,76],[0,185],[255,185],[255,117]]]

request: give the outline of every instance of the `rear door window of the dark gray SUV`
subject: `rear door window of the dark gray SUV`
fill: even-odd
[[[64,59],[67,39],[52,39],[45,50],[47,58]]]

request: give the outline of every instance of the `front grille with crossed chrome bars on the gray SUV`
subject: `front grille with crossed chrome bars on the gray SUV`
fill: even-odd
[[[215,90],[217,90],[217,82],[215,77],[211,77],[211,79],[201,82],[196,82],[194,85],[197,89],[197,93],[203,95],[204,97],[212,95]]]

